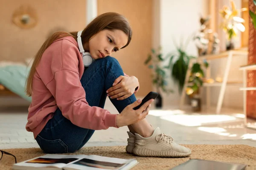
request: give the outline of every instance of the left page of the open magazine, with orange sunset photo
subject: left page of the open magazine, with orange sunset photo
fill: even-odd
[[[39,156],[30,160],[26,160],[17,164],[14,164],[14,169],[20,169],[20,167],[58,167],[62,168],[67,164],[73,163],[79,159],[83,159],[86,155],[55,155],[47,154]]]

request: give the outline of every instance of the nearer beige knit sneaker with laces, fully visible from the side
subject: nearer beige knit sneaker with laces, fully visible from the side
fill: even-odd
[[[161,133],[159,127],[148,138],[144,138],[137,133],[135,133],[135,136],[133,153],[137,156],[186,157],[191,155],[191,150],[173,142],[172,137]]]

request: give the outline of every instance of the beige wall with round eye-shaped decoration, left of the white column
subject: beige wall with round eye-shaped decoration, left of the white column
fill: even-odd
[[[12,23],[12,13],[20,5],[29,4],[38,14],[38,24],[21,29]],[[49,33],[78,31],[86,26],[85,0],[8,0],[0,4],[0,61],[24,61],[32,58]]]

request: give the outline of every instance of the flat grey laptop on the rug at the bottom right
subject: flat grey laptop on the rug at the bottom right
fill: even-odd
[[[245,164],[190,159],[171,170],[244,170],[246,166]]]

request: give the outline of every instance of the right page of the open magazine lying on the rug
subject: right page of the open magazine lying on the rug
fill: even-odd
[[[123,167],[126,167],[129,163],[133,163],[130,166],[137,164],[136,159],[119,159],[119,158],[110,158],[104,156],[90,155],[76,161],[72,164],[69,164],[64,167],[64,170],[119,170]],[[129,169],[129,166],[127,166]]]

